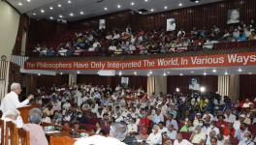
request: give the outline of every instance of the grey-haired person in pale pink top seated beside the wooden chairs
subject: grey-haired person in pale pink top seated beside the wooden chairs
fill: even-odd
[[[39,108],[32,108],[28,113],[28,122],[23,126],[25,131],[29,131],[30,145],[48,145],[45,131],[39,125],[42,119],[42,111]]]

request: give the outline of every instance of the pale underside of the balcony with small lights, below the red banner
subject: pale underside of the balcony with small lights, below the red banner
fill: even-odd
[[[214,73],[213,70],[216,72]],[[97,74],[98,71],[52,71],[51,73],[80,73],[80,74]],[[166,70],[137,70],[137,71],[115,71],[115,75],[224,75],[224,74],[255,74],[256,66],[237,66],[237,67],[218,67],[218,68],[187,68],[187,69],[166,69]],[[34,73],[31,72],[31,73]],[[44,71],[36,73],[44,74]]]

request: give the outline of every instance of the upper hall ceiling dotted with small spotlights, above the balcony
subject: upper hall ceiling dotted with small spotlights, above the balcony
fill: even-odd
[[[159,13],[163,11],[169,11],[184,7],[191,7],[196,5],[202,5],[207,3],[213,3],[222,0],[201,0],[199,3],[191,2],[190,0],[7,0],[11,3],[21,14],[28,14],[32,18],[48,18],[52,16],[54,19],[59,18],[59,15],[63,15],[62,19],[73,21],[83,19],[86,17],[92,17],[101,14],[111,14],[114,12],[120,12],[125,10],[137,11],[140,9],[146,9],[149,12],[145,14]],[[30,1],[30,2],[28,2]],[[102,1],[97,3],[97,1]],[[22,3],[19,6],[18,3]],[[134,5],[131,5],[134,3]],[[182,3],[179,7],[178,4]],[[58,7],[61,4],[61,7]],[[120,5],[120,8],[117,8]],[[52,7],[53,10],[50,10]],[[167,9],[165,9],[167,7]],[[105,11],[104,8],[108,8]],[[153,12],[150,10],[153,9]],[[44,10],[45,13],[41,13]],[[80,14],[83,12],[83,14]],[[70,14],[74,14],[71,16]],[[36,15],[33,15],[36,14]]]

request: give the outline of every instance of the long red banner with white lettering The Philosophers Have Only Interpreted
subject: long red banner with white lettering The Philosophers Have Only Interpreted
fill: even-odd
[[[27,70],[154,70],[256,65],[256,51],[125,61],[25,62]]]

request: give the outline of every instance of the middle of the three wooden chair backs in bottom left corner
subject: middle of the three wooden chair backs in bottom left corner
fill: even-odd
[[[16,124],[14,124],[13,122],[6,122],[4,138],[5,138],[5,145],[9,145],[9,144],[16,145]]]

